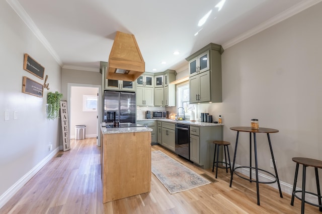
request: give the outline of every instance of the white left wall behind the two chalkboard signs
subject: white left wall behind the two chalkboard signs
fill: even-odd
[[[0,1],[0,29],[1,207],[8,190],[17,187],[19,179],[53,152],[49,143],[54,150],[59,147],[59,121],[46,119],[47,89],[43,98],[22,93],[23,76],[44,83],[23,70],[24,54],[45,67],[49,91],[61,91],[61,68],[6,1]],[[5,111],[9,121],[5,121]]]

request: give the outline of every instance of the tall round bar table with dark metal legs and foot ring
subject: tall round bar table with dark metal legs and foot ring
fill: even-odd
[[[271,139],[270,139],[270,133],[276,133],[278,132],[277,129],[271,129],[271,128],[259,128],[259,129],[252,129],[252,127],[231,127],[231,130],[237,131],[237,136],[236,136],[236,144],[235,144],[235,151],[233,154],[233,162],[232,162],[232,168],[231,168],[231,176],[230,176],[230,184],[229,187],[231,187],[231,183],[232,183],[232,175],[235,172],[235,169],[237,168],[249,168],[250,169],[250,178],[246,178],[243,177],[239,174],[237,174],[235,172],[236,175],[238,175],[241,178],[247,179],[250,182],[252,181],[256,181],[256,190],[257,190],[257,205],[260,205],[260,192],[259,192],[259,183],[275,183],[277,182],[278,184],[278,189],[280,191],[280,196],[283,197],[282,195],[282,190],[281,190],[281,186],[280,186],[280,181],[278,178],[278,174],[277,174],[277,169],[276,169],[276,164],[275,164],[275,159],[274,159],[274,154],[273,154],[273,149],[272,149],[272,144],[271,144]],[[250,166],[239,166],[235,168],[235,159],[236,159],[236,152],[237,152],[237,143],[238,143],[238,136],[239,136],[239,132],[249,132],[250,133]],[[252,180],[252,169],[254,167],[252,167],[252,133],[254,134],[254,153],[255,153],[255,173],[256,173],[256,180]],[[274,165],[274,170],[275,170],[275,175],[271,172],[268,172],[264,169],[259,169],[258,168],[258,164],[257,164],[257,145],[256,145],[256,133],[266,133],[267,134],[267,139],[268,139],[268,143],[270,146],[270,150],[271,150],[271,155],[272,155],[272,160],[273,160],[273,165]],[[265,171],[271,175],[273,175],[275,177],[274,181],[259,181],[258,180],[258,170],[261,171]]]

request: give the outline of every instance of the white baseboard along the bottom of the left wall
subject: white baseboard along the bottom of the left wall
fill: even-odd
[[[21,187],[23,187],[46,163],[48,163],[55,154],[59,151],[59,147],[50,152],[44,159],[42,159],[34,168],[22,176],[14,185],[0,196],[0,208],[3,207]]]

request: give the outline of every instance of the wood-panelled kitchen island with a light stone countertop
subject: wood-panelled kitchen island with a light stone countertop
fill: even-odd
[[[150,191],[151,131],[101,128],[103,203]]]

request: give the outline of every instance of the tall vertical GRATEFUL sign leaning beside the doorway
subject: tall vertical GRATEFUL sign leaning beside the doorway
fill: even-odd
[[[62,150],[67,151],[70,150],[67,101],[60,101],[60,120],[62,130]]]

